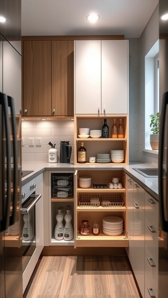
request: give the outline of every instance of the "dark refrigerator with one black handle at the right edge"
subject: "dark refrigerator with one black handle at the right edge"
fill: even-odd
[[[159,185],[159,277],[158,297],[168,297],[168,20],[161,16],[168,13],[168,1],[159,0],[159,102],[160,131],[158,155]]]

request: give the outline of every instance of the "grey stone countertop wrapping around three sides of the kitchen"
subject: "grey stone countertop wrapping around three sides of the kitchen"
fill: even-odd
[[[22,186],[28,183],[31,179],[38,176],[44,170],[48,171],[75,171],[75,170],[124,170],[132,179],[135,179],[141,187],[143,187],[150,195],[158,201],[158,178],[157,177],[144,177],[136,172],[133,168],[155,168],[152,164],[144,163],[141,161],[129,162],[129,165],[74,165],[73,163],[49,163],[49,162],[22,162],[22,170],[33,171],[29,175],[22,178]]]

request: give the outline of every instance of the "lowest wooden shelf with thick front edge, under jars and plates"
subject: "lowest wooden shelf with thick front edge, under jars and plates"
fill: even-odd
[[[124,233],[119,236],[108,236],[104,233],[100,233],[98,236],[94,236],[91,233],[87,236],[78,234],[76,239],[77,247],[128,247],[129,241]]]

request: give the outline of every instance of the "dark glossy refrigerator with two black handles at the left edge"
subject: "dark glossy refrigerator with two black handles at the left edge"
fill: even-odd
[[[21,298],[21,0],[0,15],[0,297]]]

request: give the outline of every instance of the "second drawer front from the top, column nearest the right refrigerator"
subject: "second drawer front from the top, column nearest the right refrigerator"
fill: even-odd
[[[145,216],[145,245],[158,267],[158,237],[159,232]]]

